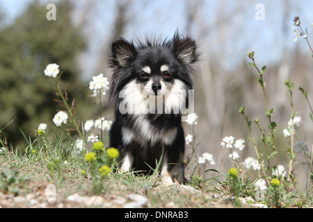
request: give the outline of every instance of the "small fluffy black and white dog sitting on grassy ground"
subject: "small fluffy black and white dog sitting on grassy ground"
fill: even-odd
[[[120,37],[111,51],[115,120],[109,136],[120,151],[119,171],[151,174],[161,163],[166,185],[186,182],[182,113],[191,99],[198,44],[176,31],[171,40],[154,37],[136,45]]]

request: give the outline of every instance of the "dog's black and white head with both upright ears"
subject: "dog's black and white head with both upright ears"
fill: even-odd
[[[182,100],[181,90],[192,88],[191,63],[199,56],[196,49],[194,40],[178,33],[168,42],[160,44],[154,40],[139,42],[138,46],[120,38],[112,44],[111,96],[125,89],[131,94],[128,102],[131,103],[139,94],[150,98],[166,95],[172,98],[168,103],[173,106],[175,100]]]

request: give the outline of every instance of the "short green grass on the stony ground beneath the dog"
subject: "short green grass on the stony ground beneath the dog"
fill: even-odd
[[[35,147],[39,146],[39,147]],[[68,196],[79,194],[80,196],[102,196],[109,207],[122,207],[129,202],[129,194],[139,194],[147,198],[147,204],[143,207],[253,207],[251,204],[242,204],[239,200],[251,197],[254,203],[263,203],[268,207],[277,207],[271,194],[264,194],[259,198],[258,190],[253,181],[248,182],[246,175],[239,172],[239,177],[234,180],[228,173],[222,173],[211,169],[215,174],[210,180],[204,180],[201,176],[193,176],[188,185],[173,185],[166,187],[161,182],[159,174],[153,176],[136,176],[134,172],[109,173],[101,182],[95,185],[95,179],[88,171],[88,164],[83,157],[71,155],[59,158],[51,167],[51,160],[47,159],[45,146],[40,146],[35,140],[29,148],[38,148],[38,153],[13,153],[2,152],[0,158],[0,193],[14,196],[28,196],[41,193],[42,203],[49,203],[45,196],[48,185],[56,186],[56,201],[46,207],[86,207],[81,203],[69,203]],[[58,146],[50,152],[58,152]],[[72,153],[74,155],[74,153]],[[83,164],[82,164],[83,162]],[[207,173],[209,172],[207,171]],[[98,189],[98,187],[100,189]],[[234,188],[236,187],[236,188]],[[236,191],[234,191],[236,189]],[[274,191],[274,190],[273,190]],[[278,194],[278,193],[277,193]],[[312,199],[304,194],[283,194],[279,192],[277,200],[279,207],[312,207]],[[115,203],[116,199],[124,198],[122,204]],[[1,204],[1,202],[0,202]],[[12,207],[12,205],[1,205]],[[28,207],[27,202],[17,203],[13,207]],[[90,206],[89,206],[90,207]],[[97,207],[91,206],[91,207]]]

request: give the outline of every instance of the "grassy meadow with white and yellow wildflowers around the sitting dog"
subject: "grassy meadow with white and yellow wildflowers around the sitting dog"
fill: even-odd
[[[307,32],[300,26],[298,17],[294,19],[296,40],[307,40]],[[312,51],[313,54],[313,51]],[[246,107],[238,110],[239,117],[246,123],[247,138],[234,138],[225,135],[220,147],[228,149],[228,160],[232,167],[216,169],[220,160],[214,155],[197,152],[200,143],[195,133],[199,119],[195,113],[188,114],[186,123],[186,185],[168,187],[159,178],[159,168],[152,169],[152,176],[140,176],[136,171],[119,173],[117,170],[119,152],[108,147],[111,119],[104,116],[103,101],[110,87],[108,78],[103,74],[94,76],[90,81],[90,100],[99,110],[99,119],[81,120],[80,110],[75,108],[75,99],[70,99],[68,86],[61,76],[62,67],[49,64],[42,67],[42,82],[48,82],[54,92],[54,102],[59,109],[53,118],[58,133],[40,123],[33,129],[33,135],[26,135],[19,128],[24,145],[10,146],[3,130],[15,121],[8,121],[0,130],[0,206],[1,207],[313,207],[312,203],[312,158],[313,147],[300,147],[296,138],[301,137],[298,130],[301,119],[294,107],[294,92],[299,90],[313,110],[310,95],[303,87],[295,87],[291,79],[284,81],[290,120],[284,128],[284,137],[289,146],[278,150],[276,146],[277,123],[273,121],[275,110],[269,107],[271,97],[266,94],[266,66],[259,66],[253,51],[247,53],[250,62],[246,64],[258,77],[264,103],[266,123],[263,117],[251,119]],[[313,55],[312,55],[313,58]],[[262,67],[262,68],[261,68]],[[271,83],[268,83],[271,84]],[[311,96],[312,98],[312,96]],[[264,127],[264,124],[266,127]],[[313,123],[312,123],[313,124]],[[262,127],[263,126],[263,127]],[[257,128],[257,133],[252,128]],[[202,142],[205,143],[205,142]],[[254,155],[244,156],[247,144],[254,148]],[[300,148],[302,150],[298,151]],[[284,152],[288,166],[280,164],[278,155]],[[294,165],[297,158],[303,158],[307,166],[306,189],[297,188]]]

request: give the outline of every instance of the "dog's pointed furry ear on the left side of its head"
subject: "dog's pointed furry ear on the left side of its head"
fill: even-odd
[[[133,59],[134,56],[136,56],[137,54],[134,43],[128,42],[122,37],[112,43],[111,50],[111,65],[113,66],[126,67],[127,65],[129,65],[131,59]]]

